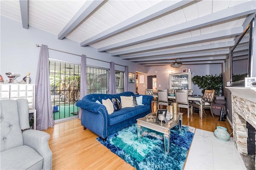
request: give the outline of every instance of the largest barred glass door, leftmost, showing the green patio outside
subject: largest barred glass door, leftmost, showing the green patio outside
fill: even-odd
[[[54,120],[77,116],[76,101],[80,99],[80,65],[50,60],[49,73]]]

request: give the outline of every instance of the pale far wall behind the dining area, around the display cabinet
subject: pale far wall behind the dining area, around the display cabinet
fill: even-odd
[[[167,89],[169,85],[170,73],[181,73],[183,68],[190,69],[192,77],[195,75],[219,75],[222,70],[221,64],[195,64],[195,65],[182,65],[179,68],[172,68],[170,65],[151,66],[148,67],[147,75],[156,75],[157,89]],[[159,87],[160,85],[160,87]],[[203,95],[202,89],[199,89],[197,85],[192,83],[193,94]]]

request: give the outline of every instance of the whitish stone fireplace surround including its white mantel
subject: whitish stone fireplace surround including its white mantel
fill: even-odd
[[[238,152],[248,155],[246,122],[256,128],[256,88],[226,87],[232,93],[233,140]],[[256,162],[254,160],[256,167]]]

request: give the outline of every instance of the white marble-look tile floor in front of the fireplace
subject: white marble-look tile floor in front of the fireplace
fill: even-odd
[[[233,138],[224,142],[213,132],[196,129],[185,170],[246,170]]]

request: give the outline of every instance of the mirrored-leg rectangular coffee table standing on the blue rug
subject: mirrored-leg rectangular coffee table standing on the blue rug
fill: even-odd
[[[179,125],[179,130],[182,129],[182,115],[183,113],[174,114],[170,121],[165,124],[155,123],[156,112],[149,113],[145,117],[137,119],[137,134],[140,141],[142,136],[142,127],[146,127],[164,134],[164,151],[169,154],[170,150],[170,129]]]

